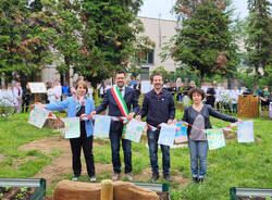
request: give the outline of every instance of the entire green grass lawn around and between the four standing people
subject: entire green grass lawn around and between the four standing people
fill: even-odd
[[[177,118],[183,113],[177,112]],[[54,157],[60,157],[61,150],[52,149],[50,154],[40,151],[18,151],[17,148],[33,140],[58,135],[48,128],[38,129],[27,124],[28,114],[14,114],[9,118],[0,118],[0,154],[4,160],[0,162],[0,177],[32,177],[42,166],[52,162]],[[248,120],[248,118],[242,118]],[[272,179],[272,126],[269,118],[252,118],[255,124],[255,136],[260,140],[254,143],[238,143],[237,140],[226,141],[226,147],[208,152],[208,172],[202,185],[188,184],[183,190],[178,190],[180,183],[170,183],[172,200],[226,200],[230,199],[231,187],[271,188]],[[211,117],[213,127],[224,127],[228,123]],[[101,145],[94,147],[95,162],[111,164],[111,149],[108,139],[99,140]],[[149,151],[145,143],[132,143],[133,150],[133,175],[141,173],[150,167]],[[123,161],[123,152],[121,151]],[[159,150],[159,166],[161,170],[161,151]],[[32,157],[27,160],[27,157]],[[18,166],[15,160],[25,160]],[[123,162],[122,162],[123,164]],[[190,179],[190,164],[188,148],[171,149],[171,168],[177,170],[184,177]],[[122,167],[124,171],[124,167]],[[100,182],[110,178],[112,172],[98,175]],[[171,172],[176,176],[176,172]],[[73,176],[64,174],[63,179]],[[151,178],[151,177],[150,177]],[[52,186],[47,187],[47,193],[52,195]],[[88,182],[87,175],[81,177],[82,182]],[[149,179],[151,180],[151,179]],[[162,178],[159,182],[163,182]]]

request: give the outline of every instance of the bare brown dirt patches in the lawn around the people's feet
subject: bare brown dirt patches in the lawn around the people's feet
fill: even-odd
[[[94,142],[94,146],[106,145],[104,141],[98,140]],[[63,179],[64,174],[72,173],[72,153],[70,141],[63,139],[61,136],[53,136],[50,138],[45,138],[36,141],[32,141],[30,143],[24,145],[20,147],[20,150],[40,150],[45,154],[51,154],[52,150],[61,150],[63,153],[58,157],[53,158],[52,164],[45,166],[39,173],[37,173],[34,177],[35,178],[46,178],[47,185],[52,185],[58,179]],[[84,157],[82,152],[82,157]],[[22,162],[22,161],[20,161]],[[100,164],[96,163],[96,175],[104,175],[110,174],[113,175],[112,164]],[[171,176],[174,182],[180,183],[177,186],[178,189],[184,188],[189,180],[184,178],[182,173],[177,170],[173,170],[174,175]],[[86,164],[82,162],[82,174],[87,174]],[[123,174],[122,174],[123,175]],[[145,168],[140,174],[134,176],[135,182],[150,182],[151,179],[151,168]],[[163,178],[161,177],[161,180]]]

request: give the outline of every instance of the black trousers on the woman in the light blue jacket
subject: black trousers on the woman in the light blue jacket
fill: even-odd
[[[82,162],[81,152],[83,148],[87,173],[90,176],[95,176],[95,161],[92,154],[92,140],[94,136],[87,137],[86,133],[82,133],[79,138],[70,139],[71,150],[72,150],[72,164],[75,176],[81,176],[82,174]]]

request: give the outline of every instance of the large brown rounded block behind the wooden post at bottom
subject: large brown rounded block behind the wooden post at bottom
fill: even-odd
[[[101,184],[62,180],[54,190],[54,200],[100,200]],[[113,183],[113,200],[159,200],[156,192],[127,182]]]

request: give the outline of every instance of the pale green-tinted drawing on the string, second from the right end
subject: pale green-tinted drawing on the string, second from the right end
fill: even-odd
[[[222,129],[207,129],[209,150],[225,147],[225,137]]]

